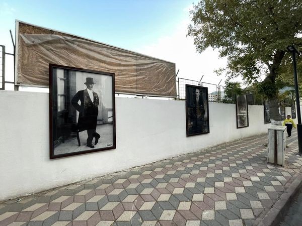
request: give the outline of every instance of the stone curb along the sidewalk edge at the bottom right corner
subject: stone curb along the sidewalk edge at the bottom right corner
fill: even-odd
[[[302,174],[298,174],[286,191],[280,196],[280,198],[275,202],[267,214],[262,218],[259,217],[256,220],[258,226],[276,226],[282,221],[287,213],[288,207],[294,196],[298,193],[302,187]],[[262,218],[262,219],[260,219]]]

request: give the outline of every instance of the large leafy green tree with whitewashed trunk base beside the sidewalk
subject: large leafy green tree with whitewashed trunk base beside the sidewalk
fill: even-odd
[[[191,16],[188,36],[194,38],[197,51],[218,49],[228,59],[229,78],[242,76],[247,83],[256,83],[269,102],[271,121],[280,121],[279,75],[292,78],[286,47],[302,47],[302,1],[202,0],[193,6]],[[289,66],[291,73],[286,74]]]

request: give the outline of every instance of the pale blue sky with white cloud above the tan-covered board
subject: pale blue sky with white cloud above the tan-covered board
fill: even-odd
[[[222,79],[224,84],[225,77],[214,70],[226,60],[210,48],[197,53],[193,39],[186,37],[193,2],[197,0],[0,0],[0,45],[13,52],[9,30],[15,39],[17,19],[173,62],[180,78],[199,81],[204,75],[204,82]],[[13,58],[7,61],[12,68]]]

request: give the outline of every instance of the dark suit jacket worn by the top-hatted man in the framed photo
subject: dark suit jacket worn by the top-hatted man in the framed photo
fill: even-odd
[[[81,100],[81,105],[78,103]],[[72,106],[77,109],[79,114],[78,129],[80,131],[92,130],[97,128],[97,119],[99,114],[99,96],[93,91],[93,102],[90,99],[87,89],[77,92],[72,100]]]

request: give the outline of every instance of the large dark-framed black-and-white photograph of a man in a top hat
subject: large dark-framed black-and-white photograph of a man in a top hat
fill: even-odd
[[[114,74],[49,64],[50,159],[116,148]]]

